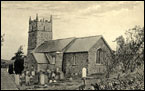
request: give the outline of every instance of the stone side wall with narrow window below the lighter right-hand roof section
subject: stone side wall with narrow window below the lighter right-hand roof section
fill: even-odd
[[[76,64],[74,65],[75,57]],[[65,76],[73,76],[78,74],[81,76],[82,68],[88,68],[88,53],[65,53],[63,58],[63,72]]]

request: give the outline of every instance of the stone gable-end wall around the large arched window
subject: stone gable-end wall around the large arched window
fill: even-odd
[[[97,50],[101,48],[103,50],[103,62],[101,64],[97,64]],[[99,39],[99,41],[89,50],[89,65],[88,65],[88,73],[89,74],[96,74],[96,73],[105,73],[106,66],[104,65],[107,57],[106,55],[111,55],[111,51],[108,46],[105,44],[103,39]],[[106,58],[107,59],[107,58]],[[110,62],[111,60],[108,58],[107,60]]]

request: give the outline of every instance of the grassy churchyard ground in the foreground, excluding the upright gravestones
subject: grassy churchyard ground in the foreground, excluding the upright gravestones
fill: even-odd
[[[100,78],[100,77],[99,77]],[[99,81],[98,78],[95,77],[87,77],[86,78],[86,87],[85,89],[91,89],[91,84],[95,84]],[[47,84],[31,84],[25,85],[22,84],[19,86],[20,90],[79,90],[79,87],[83,86],[84,82],[81,78],[66,78],[63,80],[56,80],[56,82],[48,82]]]

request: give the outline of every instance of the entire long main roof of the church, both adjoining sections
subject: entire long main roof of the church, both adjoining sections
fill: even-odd
[[[101,38],[98,36],[89,36],[81,38],[67,38],[49,40],[41,44],[35,49],[36,53],[57,52],[63,51],[69,44],[71,44],[64,52],[87,52],[97,41]]]

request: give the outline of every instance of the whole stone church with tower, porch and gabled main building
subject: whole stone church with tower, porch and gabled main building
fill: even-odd
[[[52,39],[53,19],[29,19],[28,52],[25,67],[39,72],[62,71],[65,76],[105,73],[111,63],[112,50],[102,35]]]

